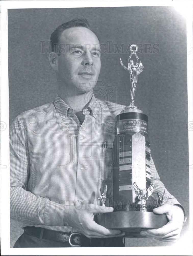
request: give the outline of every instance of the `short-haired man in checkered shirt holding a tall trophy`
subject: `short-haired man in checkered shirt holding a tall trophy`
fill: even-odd
[[[62,24],[51,41],[49,61],[56,72],[57,97],[20,114],[10,128],[10,215],[25,230],[14,247],[124,246],[124,232],[95,222],[95,214],[113,211],[100,206],[98,198],[104,184],[112,198],[114,135],[108,124],[124,106],[93,95],[100,45],[87,20]],[[108,148],[102,147],[106,141]],[[153,162],[151,172],[155,196],[164,185]],[[165,213],[167,225],[141,234],[174,241],[184,212],[166,189],[164,201],[153,211]],[[111,206],[110,201],[106,205]]]

